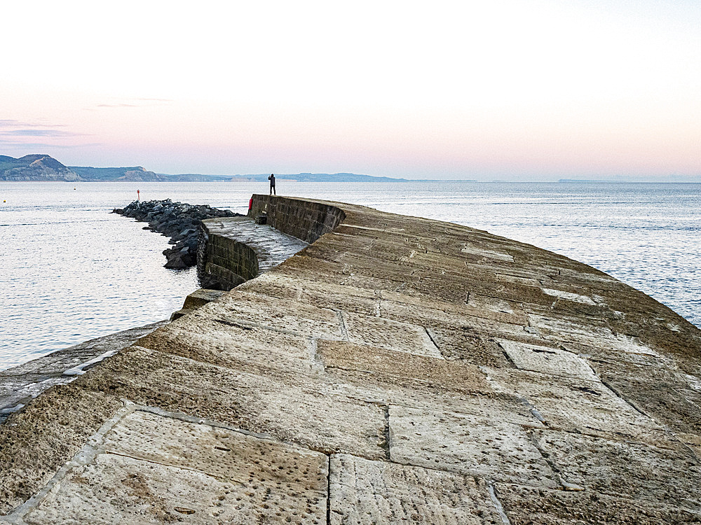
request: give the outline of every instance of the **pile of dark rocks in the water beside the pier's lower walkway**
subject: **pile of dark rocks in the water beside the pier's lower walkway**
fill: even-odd
[[[188,268],[197,263],[197,239],[203,219],[236,217],[233,211],[212,208],[208,204],[195,206],[166,200],[135,200],[125,208],[115,208],[114,214],[148,222],[144,230],[153,230],[170,237],[172,248],[163,251],[168,259],[166,268]]]

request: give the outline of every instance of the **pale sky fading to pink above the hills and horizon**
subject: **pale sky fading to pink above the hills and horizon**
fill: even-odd
[[[5,2],[0,155],[701,181],[695,0]]]

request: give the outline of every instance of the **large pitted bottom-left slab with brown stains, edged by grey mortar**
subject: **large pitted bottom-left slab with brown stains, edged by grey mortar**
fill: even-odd
[[[82,463],[82,462],[79,462]],[[132,412],[29,510],[29,524],[322,523],[324,454]]]

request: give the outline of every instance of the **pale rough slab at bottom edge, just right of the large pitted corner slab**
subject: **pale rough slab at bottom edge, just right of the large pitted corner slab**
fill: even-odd
[[[329,525],[503,525],[479,479],[346,454],[331,458]]]

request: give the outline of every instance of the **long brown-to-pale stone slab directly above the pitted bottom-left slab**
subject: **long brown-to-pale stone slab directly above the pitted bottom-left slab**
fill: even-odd
[[[266,433],[319,451],[386,456],[385,409],[337,393],[318,375],[254,374],[132,347],[86,388]],[[109,385],[109,386],[106,386]]]

